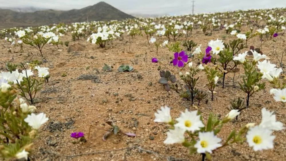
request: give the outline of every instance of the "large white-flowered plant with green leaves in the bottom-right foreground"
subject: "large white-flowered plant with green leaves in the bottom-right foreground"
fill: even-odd
[[[275,136],[272,133],[282,130],[284,127],[280,121],[276,121],[273,112],[263,108],[261,113],[262,119],[259,125],[248,123],[242,126],[238,132],[233,129],[225,141],[222,141],[218,134],[226,123],[240,114],[238,110],[231,110],[222,119],[218,119],[217,115],[210,113],[204,124],[205,121],[200,111],[186,109],[180,117],[172,119],[170,108],[165,106],[155,113],[154,121],[170,125],[164,144],[182,144],[190,150],[190,154],[202,154],[203,160],[205,157],[211,160],[212,152],[234,143],[247,142],[254,151],[273,149]]]

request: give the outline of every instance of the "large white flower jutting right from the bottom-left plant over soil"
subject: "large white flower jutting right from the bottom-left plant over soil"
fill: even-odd
[[[46,123],[48,120],[49,118],[46,117],[46,114],[44,113],[39,113],[38,115],[31,113],[31,115],[28,115],[27,118],[24,119],[24,121],[33,129],[40,129],[41,125]]]

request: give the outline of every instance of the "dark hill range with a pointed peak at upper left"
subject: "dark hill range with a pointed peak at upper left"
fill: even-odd
[[[70,23],[88,21],[110,21],[134,18],[115,7],[99,2],[93,6],[69,11],[43,10],[35,12],[17,12],[11,9],[0,9],[0,28],[50,25],[53,23]]]

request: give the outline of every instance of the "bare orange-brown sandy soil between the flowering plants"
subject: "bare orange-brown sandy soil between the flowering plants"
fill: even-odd
[[[242,30],[242,33],[244,31]],[[188,40],[202,44],[204,49],[210,40],[221,39],[222,35],[225,35],[225,31],[204,36],[200,30],[195,30]],[[279,37],[285,38],[284,35]],[[235,36],[227,35],[224,41],[228,42],[233,38]],[[64,36],[63,41],[65,40],[71,41],[71,36]],[[173,118],[179,116],[180,111],[185,108],[196,110],[175,91],[167,92],[157,83],[158,64],[152,64],[151,58],[157,57],[167,64],[173,53],[163,47],[156,54],[155,46],[149,46],[147,40],[139,36],[131,39],[129,51],[127,41],[126,36],[123,41],[114,40],[106,49],[87,43],[86,40],[70,42],[70,46],[79,44],[83,49],[77,51],[75,48],[71,52],[67,52],[66,46],[44,47],[43,53],[48,62],[42,66],[50,68],[51,78],[37,96],[39,103],[36,107],[37,112],[46,113],[50,120],[43,126],[35,142],[31,160],[201,160],[200,155],[189,155],[188,149],[181,145],[164,145],[168,126],[153,122],[154,113],[163,105],[171,107]],[[3,44],[0,46],[1,70],[5,68],[4,62],[9,61],[12,56],[13,63],[27,62],[32,56],[32,60],[41,60],[39,52],[32,47],[24,45],[23,53],[20,53],[19,47],[11,47],[11,54],[7,52],[9,43],[4,40],[0,42]],[[259,46],[260,42],[255,38],[248,44]],[[279,66],[277,59],[271,54],[273,44],[273,41],[268,40],[263,44],[262,51],[267,56],[270,54],[271,62]],[[280,41],[276,46],[280,58],[285,44]],[[103,63],[114,66],[113,71],[102,71]],[[118,72],[117,68],[121,64],[130,64],[135,70]],[[86,68],[88,66],[89,69]],[[171,65],[169,68],[175,69]],[[67,76],[62,77],[63,73]],[[82,74],[93,74],[98,76],[98,79],[96,83],[91,80],[78,80]],[[203,101],[198,106],[204,122],[210,112],[223,117],[229,112],[227,107],[230,107],[233,99],[246,96],[237,83],[242,80],[242,74],[242,70],[236,73],[235,86],[232,85],[233,73],[227,74],[225,88],[222,89],[222,83],[218,84],[214,101],[210,101],[209,95],[208,103]],[[203,73],[199,75],[198,88],[207,92],[206,76]],[[182,81],[179,81],[179,84],[182,84]],[[274,101],[269,90],[267,83],[265,90],[251,97],[250,107],[243,111],[238,121],[226,124],[218,136],[225,140],[231,129],[238,130],[246,123],[259,123],[263,107],[275,111],[277,120],[286,124],[285,107]],[[102,141],[103,134],[110,129],[105,121],[110,120],[115,121],[122,131],[135,133],[136,137],[112,135],[105,142]],[[52,127],[53,123],[56,123],[57,128]],[[70,137],[70,133],[75,131],[84,132],[88,141],[84,144],[72,144],[74,139]],[[277,131],[274,134],[276,138],[273,150],[254,152],[247,143],[234,144],[214,151],[213,160],[285,160],[285,131]]]

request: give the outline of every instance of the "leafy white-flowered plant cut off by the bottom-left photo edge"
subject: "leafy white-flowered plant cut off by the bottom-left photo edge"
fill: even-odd
[[[3,73],[2,73],[3,74]],[[33,140],[40,127],[48,121],[46,114],[35,114],[36,107],[16,99],[17,90],[11,86],[12,79],[0,77],[0,156],[7,159],[28,159]],[[11,75],[11,77],[14,77]]]

